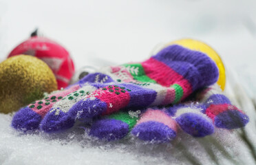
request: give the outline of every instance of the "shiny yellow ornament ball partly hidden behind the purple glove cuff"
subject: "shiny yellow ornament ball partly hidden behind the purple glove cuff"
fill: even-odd
[[[224,64],[222,63],[222,59],[217,54],[217,52],[213,50],[213,48],[211,48],[206,43],[203,43],[202,41],[197,41],[194,39],[181,39],[178,41],[173,41],[171,43],[168,43],[167,45],[173,45],[173,44],[178,44],[183,47],[189,48],[191,50],[197,50],[207,54],[216,63],[219,69],[219,79],[217,80],[217,84],[220,85],[220,88],[222,90],[224,90],[226,85],[225,67],[224,67]]]

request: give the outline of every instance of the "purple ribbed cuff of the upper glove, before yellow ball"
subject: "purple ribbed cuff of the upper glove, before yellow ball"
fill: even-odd
[[[218,69],[209,56],[202,52],[183,49],[180,45],[171,45],[169,49],[161,50],[153,58],[167,64],[175,72],[186,77],[186,80],[189,80],[193,86],[193,91],[212,85],[219,76]]]

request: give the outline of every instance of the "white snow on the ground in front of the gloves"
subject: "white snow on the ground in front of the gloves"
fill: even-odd
[[[145,144],[133,137],[98,142],[83,126],[65,133],[14,131],[11,115],[0,115],[0,164],[215,164],[252,163],[250,151],[235,131],[193,138],[180,131],[170,144]],[[238,138],[238,139],[237,139]],[[211,153],[213,152],[213,153]],[[231,159],[232,158],[232,159]]]

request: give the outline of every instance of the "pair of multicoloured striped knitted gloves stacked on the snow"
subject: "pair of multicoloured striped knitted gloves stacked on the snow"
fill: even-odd
[[[217,67],[211,58],[171,45],[142,63],[107,67],[88,74],[61,91],[58,100],[58,96],[51,96],[53,102],[43,111],[39,111],[41,102],[46,105],[49,98],[22,108],[14,115],[12,126],[22,130],[40,126],[41,130],[53,133],[70,129],[76,120],[92,120],[120,109],[155,106],[160,108],[142,111],[137,124],[133,118],[96,118],[89,135],[111,141],[120,140],[131,131],[140,140],[169,142],[177,134],[176,125],[194,137],[211,135],[214,125],[224,129],[245,126],[248,116],[226,96],[211,89],[202,92],[202,104],[176,104],[193,91],[212,85],[217,77]],[[169,104],[175,105],[161,108]]]

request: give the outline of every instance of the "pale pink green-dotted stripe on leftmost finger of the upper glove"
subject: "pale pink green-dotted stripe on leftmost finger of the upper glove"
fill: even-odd
[[[79,85],[74,85],[73,87],[70,87],[70,89],[66,89],[65,91],[59,91],[59,92],[57,92],[57,93],[55,93],[55,94],[51,94],[51,95],[49,95],[49,96],[47,96],[49,99],[43,99],[43,100],[37,100],[36,101],[36,103],[34,104],[34,108],[30,108],[30,109],[32,109],[32,111],[34,111],[34,112],[36,112],[36,113],[38,113],[39,115],[41,115],[42,117],[44,117],[45,116],[45,114],[48,112],[48,111],[50,111],[50,109],[52,108],[52,106],[54,105],[54,104],[56,104],[56,102],[58,102],[58,101],[60,101],[61,99],[58,99],[58,97],[65,97],[65,96],[67,96],[68,94],[70,94],[70,93],[72,93],[73,91],[76,91],[76,90],[78,90],[80,87],[79,87]],[[54,99],[54,100],[56,100],[56,102],[52,102],[51,101],[51,99],[50,98],[52,98],[52,96],[55,96],[56,97],[56,99]],[[50,104],[45,104],[47,101],[46,100],[50,100]],[[43,102],[42,104],[39,104],[39,102]],[[30,107],[32,104],[29,104],[28,105],[28,107]],[[39,105],[41,105],[42,106],[42,108],[41,109],[37,109],[37,107],[39,106]]]

